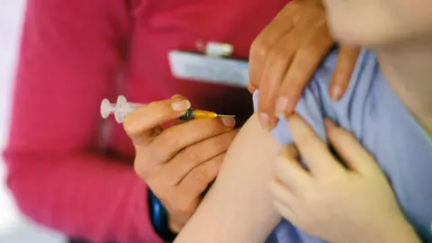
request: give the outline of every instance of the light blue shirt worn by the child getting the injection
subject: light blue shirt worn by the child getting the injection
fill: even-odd
[[[424,241],[432,242],[432,139],[386,83],[374,53],[363,50],[347,88],[338,102],[329,98],[329,80],[337,54],[330,53],[313,76],[296,106],[322,139],[323,118],[351,131],[375,157],[392,184],[401,209]],[[257,93],[254,94],[257,109]],[[281,144],[292,143],[286,121],[272,131]],[[267,242],[323,242],[284,220]]]

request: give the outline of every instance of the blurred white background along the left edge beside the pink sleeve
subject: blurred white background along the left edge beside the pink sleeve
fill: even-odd
[[[74,0],[71,0],[74,1]],[[9,105],[16,53],[23,21],[24,0],[0,0],[0,148],[3,151],[9,127]],[[25,220],[14,206],[5,184],[5,166],[0,158],[0,243],[59,243],[55,232]]]

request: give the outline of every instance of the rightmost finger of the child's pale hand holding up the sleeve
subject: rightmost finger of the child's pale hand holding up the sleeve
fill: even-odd
[[[328,119],[324,123],[329,143],[350,169],[364,175],[370,175],[377,171],[381,173],[374,157],[363,148],[353,134],[337,127],[333,121]]]

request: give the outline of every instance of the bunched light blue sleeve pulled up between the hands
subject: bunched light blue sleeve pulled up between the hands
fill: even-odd
[[[295,112],[323,140],[326,140],[324,118],[336,121],[338,125],[353,131],[358,138],[361,138],[365,133],[362,127],[365,117],[369,115],[371,109],[374,109],[374,103],[371,103],[372,99],[370,99],[376,75],[374,54],[365,50],[360,53],[346,94],[341,100],[334,102],[329,97],[329,81],[336,67],[337,58],[337,52],[334,50],[324,59],[320,69],[303,90]],[[253,95],[255,111],[257,111],[258,95],[258,91]],[[283,145],[293,142],[285,119],[278,121],[272,133],[275,139]]]

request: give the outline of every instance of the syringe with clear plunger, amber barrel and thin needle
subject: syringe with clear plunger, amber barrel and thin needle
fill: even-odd
[[[126,97],[120,95],[117,98],[117,103],[110,103],[108,99],[103,99],[101,103],[101,115],[103,119],[106,119],[110,114],[114,114],[115,121],[121,123],[124,121],[126,115],[140,106],[146,105],[145,103],[130,103],[126,100]],[[235,115],[222,115],[215,112],[207,112],[201,110],[193,110],[189,108],[187,112],[178,118],[180,121],[189,121],[193,119],[211,119],[216,117],[235,117]]]

